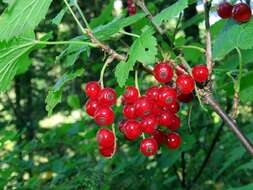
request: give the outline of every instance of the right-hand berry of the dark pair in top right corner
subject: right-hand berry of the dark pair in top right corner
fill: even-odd
[[[246,3],[238,3],[233,7],[232,17],[239,23],[248,22],[251,15],[251,8]]]

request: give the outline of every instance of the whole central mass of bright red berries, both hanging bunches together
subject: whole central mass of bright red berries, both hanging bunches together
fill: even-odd
[[[158,63],[153,75],[163,85],[148,88],[143,96],[140,96],[136,87],[128,86],[122,95],[124,120],[119,123],[119,131],[130,141],[143,135],[140,151],[145,156],[156,154],[160,144],[165,144],[170,149],[176,149],[181,144],[181,137],[175,132],[181,124],[176,115],[180,109],[179,102],[190,102],[193,99],[195,81],[204,83],[209,74],[205,65],[195,66],[192,75],[185,73],[176,70],[176,82],[172,86],[174,70],[171,63]],[[85,92],[90,97],[86,103],[87,114],[99,126],[111,125],[114,122],[111,106],[117,98],[115,91],[111,88],[102,89],[97,82],[89,82]],[[159,129],[158,126],[162,128]],[[145,135],[149,137],[146,138]],[[99,150],[103,156],[111,157],[114,154],[115,139],[115,134],[109,129],[101,128],[97,132]]]

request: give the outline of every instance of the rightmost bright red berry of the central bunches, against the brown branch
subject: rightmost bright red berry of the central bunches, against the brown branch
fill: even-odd
[[[205,65],[196,65],[192,69],[192,76],[199,83],[206,82],[208,79],[208,68]]]

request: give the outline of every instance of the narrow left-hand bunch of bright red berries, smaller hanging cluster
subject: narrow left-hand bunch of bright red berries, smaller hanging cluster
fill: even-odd
[[[85,105],[86,113],[101,127],[111,125],[114,122],[114,112],[111,106],[117,100],[115,90],[112,88],[102,89],[97,82],[88,82],[85,93],[89,97]],[[111,157],[114,154],[115,139],[115,134],[107,128],[101,128],[97,132],[99,151],[103,156]]]

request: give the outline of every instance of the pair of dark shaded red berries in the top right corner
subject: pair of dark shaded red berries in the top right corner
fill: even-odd
[[[221,18],[233,18],[239,23],[248,22],[252,15],[250,6],[242,2],[234,6],[228,2],[223,2],[219,4],[217,12]]]

